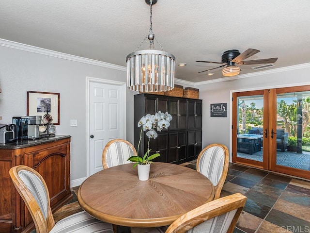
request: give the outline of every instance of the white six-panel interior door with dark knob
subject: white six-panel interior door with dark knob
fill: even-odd
[[[112,139],[124,138],[123,86],[89,83],[90,175],[103,169],[102,150]]]

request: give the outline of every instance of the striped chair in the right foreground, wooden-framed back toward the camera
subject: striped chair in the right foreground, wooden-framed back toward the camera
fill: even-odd
[[[247,197],[235,193],[187,212],[170,226],[139,228],[135,233],[233,233],[246,201]]]

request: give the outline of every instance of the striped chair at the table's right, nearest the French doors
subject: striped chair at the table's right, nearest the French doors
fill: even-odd
[[[215,188],[214,199],[218,199],[222,191],[228,172],[228,163],[228,149],[223,144],[206,146],[197,158],[196,170],[213,183]]]

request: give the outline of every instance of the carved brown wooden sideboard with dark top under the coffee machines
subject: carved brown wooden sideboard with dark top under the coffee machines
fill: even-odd
[[[32,217],[11,181],[9,170],[13,166],[30,166],[42,175],[53,212],[72,199],[70,138],[56,135],[0,145],[0,233],[28,233],[34,229]]]

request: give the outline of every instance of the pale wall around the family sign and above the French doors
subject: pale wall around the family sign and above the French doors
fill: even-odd
[[[230,149],[232,91],[309,85],[309,73],[310,64],[304,64],[283,69],[279,68],[278,70],[256,72],[250,75],[239,75],[239,78],[234,80],[195,86],[199,88],[200,99],[203,100],[202,147],[211,143],[222,143]],[[210,117],[211,103],[227,103],[228,117]]]

